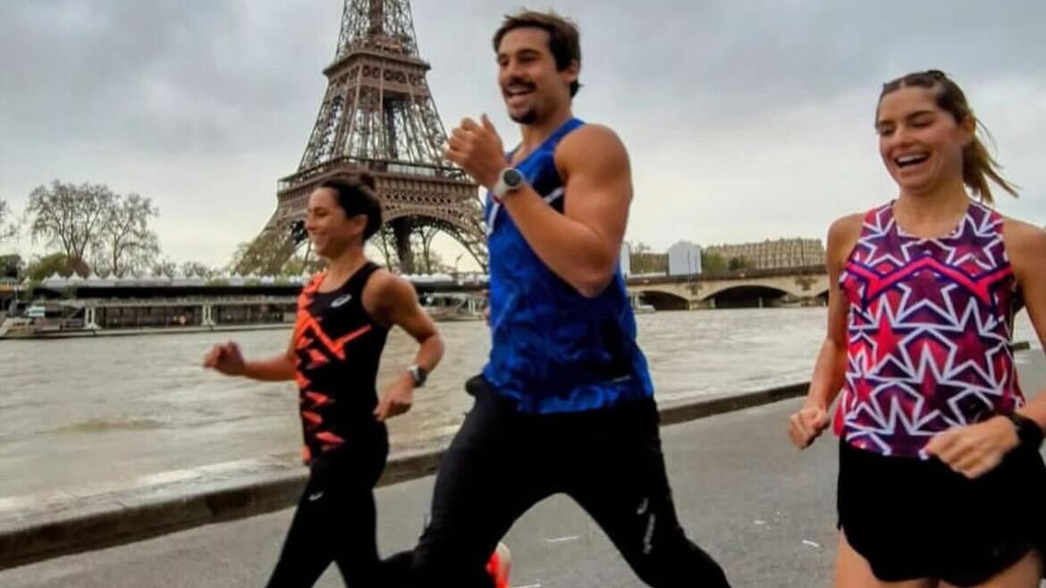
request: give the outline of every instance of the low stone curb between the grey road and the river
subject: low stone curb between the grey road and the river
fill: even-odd
[[[661,424],[684,423],[799,397],[805,393],[806,386],[792,384],[666,404],[659,410]],[[431,475],[442,452],[439,448],[392,456],[379,485]],[[300,465],[287,462],[253,475],[200,476],[191,490],[172,484],[90,498],[65,495],[42,500],[23,512],[0,514],[0,569],[287,508],[297,502],[305,479]]]

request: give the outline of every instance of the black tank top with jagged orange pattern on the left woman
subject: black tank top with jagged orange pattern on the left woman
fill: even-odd
[[[363,288],[376,270],[367,262],[331,292],[319,292],[320,273],[298,296],[295,378],[305,463],[378,425],[376,380],[388,329],[363,308]]]

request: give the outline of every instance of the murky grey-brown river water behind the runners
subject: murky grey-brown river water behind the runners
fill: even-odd
[[[670,403],[809,379],[824,309],[746,309],[639,315],[657,399]],[[447,355],[390,423],[393,451],[446,440],[471,398],[464,381],[488,352],[482,322],[439,323]],[[200,367],[220,340],[248,358],[286,349],[290,330],[0,341],[0,497],[116,483],[143,475],[298,454],[293,383],[222,377]],[[1022,314],[1017,340],[1033,333]],[[389,336],[380,384],[416,345]]]

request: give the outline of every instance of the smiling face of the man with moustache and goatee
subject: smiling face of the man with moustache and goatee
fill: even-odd
[[[562,71],[549,47],[550,35],[523,26],[505,32],[498,45],[498,84],[508,116],[533,125],[570,103],[570,85],[577,81],[578,65]]]

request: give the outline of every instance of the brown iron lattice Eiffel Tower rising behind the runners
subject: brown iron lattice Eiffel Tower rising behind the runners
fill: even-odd
[[[327,89],[298,171],[279,180],[276,211],[237,267],[275,274],[305,239],[313,188],[345,172],[374,176],[400,270],[413,273],[411,235],[437,231],[486,267],[478,186],[442,156],[447,132],[429,91],[409,0],[344,0]],[[426,243],[427,249],[428,243]],[[388,259],[387,259],[388,261]]]

